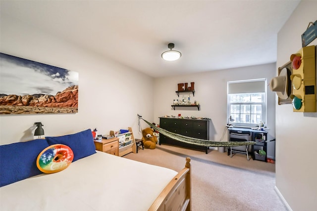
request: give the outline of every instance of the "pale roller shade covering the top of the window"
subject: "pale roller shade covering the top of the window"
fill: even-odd
[[[265,80],[250,82],[228,82],[228,94],[265,92]]]

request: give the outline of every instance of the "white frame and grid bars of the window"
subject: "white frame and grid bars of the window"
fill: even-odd
[[[234,127],[258,127],[259,126],[259,123],[260,122],[263,122],[263,123],[266,123],[266,118],[267,118],[267,86],[265,84],[266,83],[266,79],[254,79],[254,80],[243,80],[243,81],[232,81],[232,82],[228,82],[227,83],[227,124],[231,124],[232,126]],[[259,82],[259,83],[262,83],[264,82],[264,86],[260,89],[258,89],[257,87],[252,87],[252,85],[249,87],[245,87],[245,85],[243,84],[248,84],[248,82]],[[233,84],[234,83],[234,84]],[[229,86],[231,84],[231,87],[232,87],[232,84],[234,86],[239,86],[239,83],[243,83],[242,84],[242,88],[241,88],[241,91],[240,90],[237,90],[236,92],[234,91],[234,93],[231,93],[231,94],[251,94],[251,93],[263,93],[264,94],[264,101],[263,102],[247,102],[247,103],[230,103],[230,93],[229,91],[232,92],[232,90],[230,90]],[[250,84],[254,84],[254,83],[250,83]],[[264,92],[263,92],[264,91]],[[241,93],[240,93],[241,92]],[[260,120],[260,122],[257,122],[255,124],[253,123],[236,123],[235,121],[234,122],[229,122],[229,118],[231,116],[231,113],[230,113],[230,106],[231,105],[259,105],[261,104],[262,105],[262,120]],[[241,114],[241,113],[240,113]],[[250,114],[251,115],[251,114]],[[232,115],[233,116],[233,115]],[[240,115],[240,118],[241,118],[241,115]]]

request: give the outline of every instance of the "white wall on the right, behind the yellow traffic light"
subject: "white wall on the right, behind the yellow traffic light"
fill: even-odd
[[[317,1],[302,0],[278,33],[277,67],[301,49],[301,35],[316,20]],[[317,40],[309,45],[316,44]],[[293,211],[317,207],[316,126],[317,113],[293,112],[291,104],[276,104],[276,187]]]

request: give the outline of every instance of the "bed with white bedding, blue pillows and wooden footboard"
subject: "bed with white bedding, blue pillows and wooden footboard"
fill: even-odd
[[[189,158],[186,159],[184,169],[176,172],[113,156],[95,149],[91,151],[91,144],[94,145],[94,143],[90,134],[91,131],[88,129],[66,136],[46,137],[46,139],[36,139],[30,142],[1,145],[0,210],[191,210]],[[67,142],[74,151],[73,162],[59,172],[47,174],[37,171],[38,169],[34,167],[34,165],[36,166],[34,156],[15,155],[13,159],[10,158],[10,163],[5,158],[5,156],[12,157],[12,154],[14,155],[19,151],[20,154],[23,154],[30,150],[34,151],[33,154],[37,156],[46,144],[50,146],[56,144],[54,142],[60,144]],[[89,147],[83,146],[83,143],[87,145],[86,142],[89,142]],[[22,145],[23,151],[20,150],[19,144]],[[84,153],[83,157],[78,157],[77,149],[86,151],[87,148],[91,148],[91,152],[88,153],[90,155],[86,156]],[[29,159],[29,157],[32,158]],[[26,162],[26,167],[21,166],[21,158],[24,158],[23,162]],[[18,161],[19,167],[14,165],[15,160],[20,160]],[[26,168],[32,170],[28,171]],[[26,174],[25,170],[28,171]],[[32,175],[34,172],[38,173]],[[22,175],[22,177],[17,175]],[[11,177],[18,178],[12,180]],[[8,182],[9,184],[6,184]]]

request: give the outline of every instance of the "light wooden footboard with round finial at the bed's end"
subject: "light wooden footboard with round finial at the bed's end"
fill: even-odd
[[[190,158],[186,158],[185,168],[168,183],[149,211],[191,211],[190,167]]]

